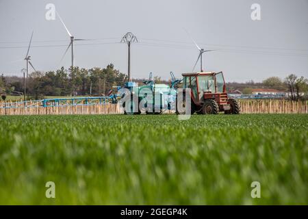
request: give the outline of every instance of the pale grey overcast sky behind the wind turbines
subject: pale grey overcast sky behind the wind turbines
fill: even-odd
[[[45,18],[47,3],[75,38],[96,39],[75,42],[75,66],[113,63],[127,73],[127,45],[118,42],[131,31],[138,38],[131,46],[132,77],[153,72],[169,79],[170,71],[181,77],[198,57],[185,28],[200,47],[216,50],[205,53],[204,68],[222,70],[227,81],[308,77],[307,0],[0,0],[0,73],[21,75],[32,30],[31,62],[37,70],[59,67],[69,37],[59,18]],[[253,3],[261,5],[261,21],[251,19]],[[60,65],[68,68],[70,51]]]

